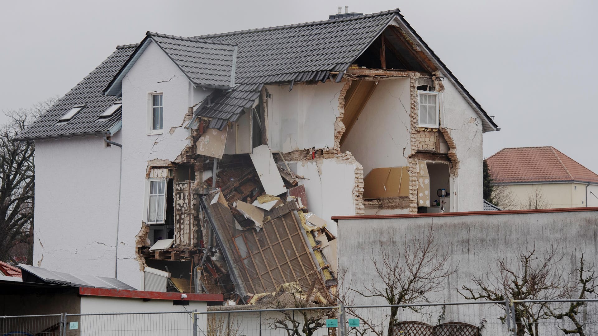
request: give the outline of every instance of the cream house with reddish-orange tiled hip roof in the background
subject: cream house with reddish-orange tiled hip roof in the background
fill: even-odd
[[[598,175],[553,146],[504,148],[487,163],[515,209],[598,206]]]

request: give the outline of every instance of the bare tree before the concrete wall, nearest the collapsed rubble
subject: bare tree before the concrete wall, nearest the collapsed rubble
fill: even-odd
[[[383,298],[388,304],[433,303],[430,294],[444,289],[447,277],[456,273],[449,262],[448,249],[442,250],[434,240],[434,227],[422,237],[404,243],[402,251],[381,249],[381,257],[372,253],[376,279],[365,290],[352,289],[363,297]],[[382,286],[378,281],[382,280]],[[411,308],[417,311],[417,308]],[[398,323],[398,307],[390,307],[388,335]]]

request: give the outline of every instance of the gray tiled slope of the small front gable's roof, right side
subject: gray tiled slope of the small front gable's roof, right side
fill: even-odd
[[[199,86],[231,87],[236,46],[218,41],[147,32],[170,59]]]

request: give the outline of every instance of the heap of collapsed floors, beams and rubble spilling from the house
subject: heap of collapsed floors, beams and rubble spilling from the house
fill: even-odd
[[[281,286],[329,300],[336,286],[335,237],[309,212],[302,176],[276,165],[270,149],[260,147],[251,157],[202,155],[194,159],[201,163],[193,176],[173,165],[172,236],[154,230],[138,245],[146,283],[161,276],[160,290],[218,293],[234,304],[255,302]],[[212,172],[203,170],[210,159]]]

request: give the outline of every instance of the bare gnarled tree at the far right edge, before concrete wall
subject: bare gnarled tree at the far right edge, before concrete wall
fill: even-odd
[[[584,253],[581,253],[581,258],[579,258],[579,265],[573,271],[575,274],[575,280],[573,281],[573,292],[576,292],[576,298],[578,300],[584,300],[589,298],[588,295],[593,294],[592,296],[596,297],[596,289],[598,288],[598,280],[596,278],[596,274],[594,273],[594,265],[585,265],[585,258]],[[584,333],[584,325],[579,322],[577,315],[579,314],[579,308],[586,307],[587,303],[584,301],[575,301],[569,304],[569,307],[565,311],[560,311],[555,313],[554,311],[550,311],[550,316],[562,320],[562,319],[569,319],[571,323],[575,326],[575,329],[568,329],[565,327],[560,327],[560,329],[565,333],[568,334],[579,334],[579,336],[585,336]]]

